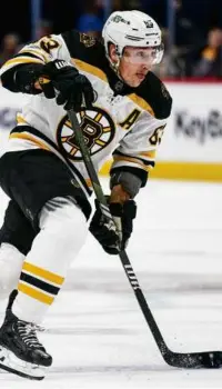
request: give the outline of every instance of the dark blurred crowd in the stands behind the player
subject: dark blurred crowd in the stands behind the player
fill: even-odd
[[[9,18],[7,30],[3,24],[0,27],[0,66],[33,39],[30,3],[31,0],[6,2],[8,14],[13,10],[19,20]],[[101,38],[108,17],[104,3],[105,0],[42,0],[42,19],[36,26],[34,39],[72,28]],[[165,53],[162,63],[153,69],[159,77],[222,77],[222,0],[110,0],[110,3],[111,12],[138,9],[160,24]]]

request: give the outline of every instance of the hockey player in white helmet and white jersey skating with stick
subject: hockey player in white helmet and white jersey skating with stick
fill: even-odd
[[[131,236],[134,197],[154,167],[171,112],[172,99],[151,71],[163,54],[157,22],[117,11],[102,37],[43,37],[0,73],[4,88],[30,96],[0,159],[0,184],[11,199],[0,235],[0,295],[10,295],[0,367],[32,379],[42,379],[52,363],[36,326],[84,245],[91,213],[90,179],[67,110],[77,111],[97,171],[113,156],[109,205],[118,229],[109,229],[97,202],[89,226],[111,255]]]

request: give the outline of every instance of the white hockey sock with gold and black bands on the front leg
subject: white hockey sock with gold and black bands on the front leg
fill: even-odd
[[[19,319],[34,323],[41,323],[46,317],[88,232],[82,211],[70,200],[60,198],[43,208],[40,228],[23,262],[19,293],[12,306]]]

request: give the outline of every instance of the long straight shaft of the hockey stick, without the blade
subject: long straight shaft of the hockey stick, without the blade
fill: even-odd
[[[110,215],[110,210],[109,210],[109,207],[108,207],[108,203],[107,203],[107,200],[105,200],[105,197],[104,197],[104,193],[103,193],[103,190],[102,190],[102,187],[101,187],[101,183],[99,181],[99,177],[98,177],[98,173],[94,169],[94,166],[92,163],[92,160],[91,160],[91,156],[90,156],[90,152],[89,152],[89,149],[88,147],[85,146],[85,142],[84,142],[84,137],[83,137],[83,133],[82,133],[82,130],[80,128],[80,124],[79,124],[79,121],[77,119],[77,113],[73,111],[73,110],[69,110],[68,111],[68,114],[69,114],[69,118],[70,118],[70,121],[71,121],[71,124],[72,124],[72,128],[73,128],[73,131],[74,131],[74,134],[75,134],[75,139],[77,139],[77,142],[78,142],[78,146],[80,148],[80,151],[81,151],[81,154],[82,154],[82,159],[84,161],[84,164],[85,164],[85,168],[88,170],[88,174],[89,174],[89,178],[91,180],[91,183],[92,183],[92,187],[93,187],[93,190],[94,190],[94,194],[99,201],[100,205],[102,205],[101,207],[101,211],[105,210],[105,216],[109,215],[109,217],[112,219],[112,216]],[[130,263],[130,260],[128,258],[128,255],[125,251],[121,251],[119,253],[119,257],[121,259],[121,262],[122,262],[122,266],[123,266],[123,269],[125,271],[125,275],[129,279],[129,282],[134,291],[134,295],[137,297],[137,300],[139,302],[139,306],[144,315],[144,318],[150,327],[150,330],[155,339],[155,342],[160,349],[160,352],[162,356],[165,355],[165,352],[169,351],[165,342],[164,342],[164,339],[160,332],[160,329],[154,320],[154,317],[147,303],[147,300],[144,298],[144,295],[141,290],[141,287],[139,285],[139,281],[138,281],[138,278],[134,273],[134,270]]]

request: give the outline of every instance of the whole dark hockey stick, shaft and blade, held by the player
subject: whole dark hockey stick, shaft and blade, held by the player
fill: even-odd
[[[99,181],[98,174],[94,170],[90,152],[88,150],[88,147],[84,142],[84,136],[82,133],[82,130],[80,128],[77,113],[73,110],[68,111],[69,119],[71,121],[72,129],[75,134],[75,139],[78,142],[78,146],[80,148],[82,159],[84,161],[85,168],[89,173],[89,178],[91,179],[92,187],[94,190],[94,194],[100,203],[101,211],[103,215],[110,220],[111,223],[113,223],[112,216],[110,213],[104,193],[102,191],[101,183]],[[125,251],[121,251],[119,253],[119,257],[121,259],[123,269],[125,271],[125,275],[129,279],[129,282],[134,291],[134,295],[137,297],[137,300],[140,305],[140,308],[144,315],[144,318],[147,320],[148,326],[150,327],[150,330],[153,335],[153,338],[158,345],[158,348],[164,359],[164,361],[168,365],[171,365],[173,367],[178,368],[220,368],[222,366],[222,351],[203,351],[203,352],[173,352],[171,351],[163,337],[160,332],[160,329],[155,322],[155,319],[147,303],[147,300],[144,298],[144,295],[141,290],[141,287],[139,285],[138,278],[134,273],[134,270],[130,263],[130,260],[128,258],[128,255]]]

